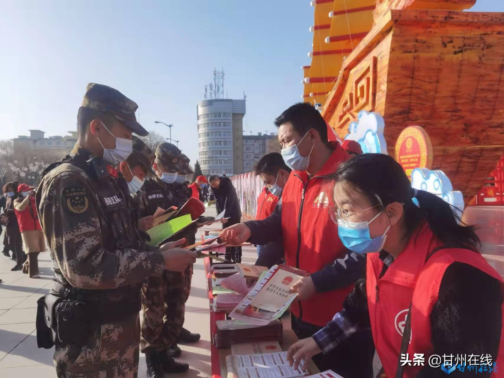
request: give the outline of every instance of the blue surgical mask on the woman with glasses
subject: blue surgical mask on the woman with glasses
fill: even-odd
[[[343,222],[338,220],[338,235],[343,245],[357,254],[369,254],[382,250],[389,227],[383,235],[371,239],[369,235],[369,224],[382,214],[376,214],[369,222]]]

